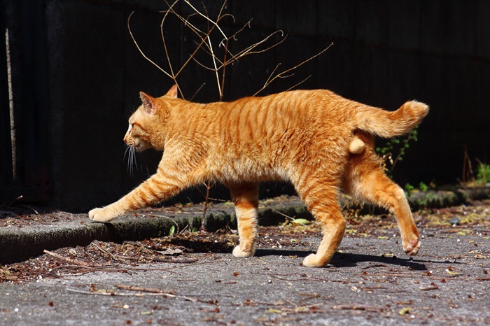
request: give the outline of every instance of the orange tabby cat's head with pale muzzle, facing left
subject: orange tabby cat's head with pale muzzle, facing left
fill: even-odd
[[[165,96],[158,99],[144,92],[139,92],[139,96],[142,103],[130,117],[124,142],[138,152],[148,148],[163,150],[165,120],[169,115],[167,100],[176,99],[177,86],[172,86]]]

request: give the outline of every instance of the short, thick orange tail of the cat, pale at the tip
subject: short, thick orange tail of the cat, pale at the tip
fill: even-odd
[[[358,129],[384,138],[407,134],[427,115],[429,107],[418,101],[407,101],[396,111],[361,106],[355,113]]]

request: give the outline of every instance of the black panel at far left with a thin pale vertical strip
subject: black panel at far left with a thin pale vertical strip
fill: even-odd
[[[1,1],[0,201],[50,199],[43,3]]]

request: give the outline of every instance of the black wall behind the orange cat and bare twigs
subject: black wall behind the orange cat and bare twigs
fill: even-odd
[[[201,1],[192,3],[202,8]],[[221,3],[204,4],[216,17]],[[139,90],[159,96],[172,80],[141,56],[127,17],[135,11],[135,38],[166,68],[160,36],[160,11],[166,8],[158,0],[0,1],[0,202],[22,194],[28,201],[85,211],[118,199],[155,171],[161,154],[148,152],[139,155],[139,171],[130,176],[122,139],[127,118],[139,106]],[[175,8],[190,13],[184,3]],[[295,66],[333,42],[295,76],[261,94],[286,90],[311,75],[300,88],[328,88],[390,110],[409,99],[426,102],[431,111],[419,127],[419,141],[394,172],[401,184],[456,182],[464,148],[472,159],[489,162],[489,1],[230,0],[225,11],[235,17],[235,24],[223,20],[228,34],[253,18],[231,45],[234,50],[277,29],[288,37],[231,66],[224,99],[255,93],[276,64]],[[169,20],[165,36],[172,62],[180,66],[195,46],[192,35]],[[188,97],[206,83],[195,100],[218,99],[213,73],[196,64],[179,83]],[[267,185],[272,191],[263,195],[283,187]],[[186,196],[202,199],[196,191],[181,199]]]

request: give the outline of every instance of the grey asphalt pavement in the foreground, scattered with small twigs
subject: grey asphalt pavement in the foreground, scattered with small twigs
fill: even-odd
[[[397,236],[348,236],[329,267],[302,267],[302,257],[318,240],[262,246],[246,259],[193,253],[197,261],[191,264],[138,264],[119,266],[119,271],[3,283],[0,323],[490,324],[488,236],[436,233],[423,239],[423,251],[413,260],[402,254]],[[147,292],[153,289],[169,295]]]

